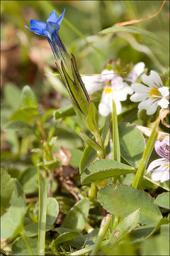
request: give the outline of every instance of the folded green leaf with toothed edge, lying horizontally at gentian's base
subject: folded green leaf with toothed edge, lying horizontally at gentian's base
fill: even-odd
[[[88,166],[83,174],[81,174],[81,183],[91,183],[92,181],[99,181],[104,178],[130,174],[134,171],[135,169],[132,166],[121,164],[111,159],[101,159]]]

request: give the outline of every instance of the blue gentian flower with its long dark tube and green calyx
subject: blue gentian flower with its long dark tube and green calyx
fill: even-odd
[[[72,55],[72,58],[69,57],[69,53],[67,53],[67,50],[64,47],[58,33],[64,13],[65,9],[60,17],[57,18],[55,11],[52,11],[50,16],[47,18],[47,23],[31,19],[30,28],[28,28],[28,26],[26,26],[26,28],[28,31],[47,38],[47,41],[50,43],[52,51],[57,60],[57,68],[62,79],[64,80],[65,85],[67,86],[69,95],[72,98],[74,110],[75,112],[80,111],[81,113],[79,112],[79,114],[83,114],[81,119],[84,119],[84,115],[87,116],[88,113],[90,101],[89,95],[86,92],[84,83],[79,75],[79,70],[77,68],[74,55]]]

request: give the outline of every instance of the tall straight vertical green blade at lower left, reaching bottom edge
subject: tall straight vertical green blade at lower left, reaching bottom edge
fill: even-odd
[[[47,211],[47,188],[38,167],[39,213],[38,213],[38,255],[45,255],[45,228]]]

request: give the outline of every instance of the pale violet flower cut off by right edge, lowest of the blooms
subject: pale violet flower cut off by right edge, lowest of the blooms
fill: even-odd
[[[152,161],[147,169],[147,174],[152,172],[152,181],[169,181],[169,142],[163,140],[162,142],[157,142],[154,144],[154,149],[162,156],[161,159]]]

